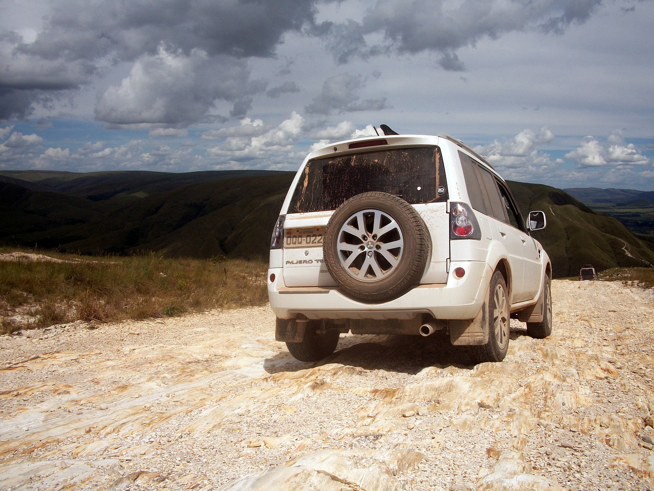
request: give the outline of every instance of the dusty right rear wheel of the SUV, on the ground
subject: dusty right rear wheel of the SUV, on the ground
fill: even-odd
[[[489,329],[489,340],[483,346],[473,346],[472,354],[477,363],[502,361],[509,350],[511,310],[504,276],[499,271],[490,278],[489,299],[484,303]]]

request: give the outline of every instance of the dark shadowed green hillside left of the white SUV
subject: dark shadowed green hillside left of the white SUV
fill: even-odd
[[[0,182],[12,190],[1,193],[0,212],[16,217],[0,225],[0,240],[82,254],[265,257],[293,175],[120,174],[94,173],[54,184],[48,177],[46,185],[61,192]]]

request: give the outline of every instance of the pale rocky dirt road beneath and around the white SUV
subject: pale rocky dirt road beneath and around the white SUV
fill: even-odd
[[[654,488],[653,293],[553,300],[481,365],[438,335],[300,363],[267,307],[0,337],[0,489]]]

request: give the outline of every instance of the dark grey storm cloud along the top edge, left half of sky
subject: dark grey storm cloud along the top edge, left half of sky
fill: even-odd
[[[209,56],[271,56],[284,33],[313,23],[315,0],[67,0],[54,4],[34,43],[19,50],[44,59],[134,60],[164,43]]]

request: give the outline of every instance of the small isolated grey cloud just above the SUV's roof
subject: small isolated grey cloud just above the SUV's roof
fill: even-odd
[[[364,86],[362,77],[349,73],[334,75],[324,81],[322,92],[304,109],[307,113],[316,115],[385,109],[386,98],[360,100],[358,93]]]

